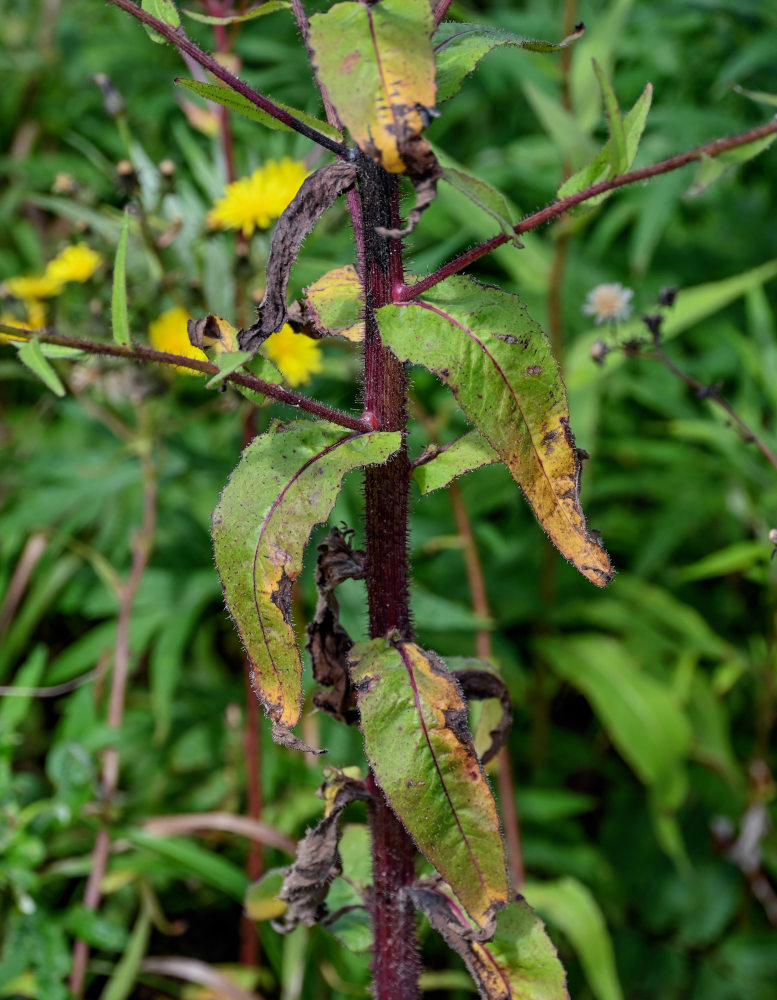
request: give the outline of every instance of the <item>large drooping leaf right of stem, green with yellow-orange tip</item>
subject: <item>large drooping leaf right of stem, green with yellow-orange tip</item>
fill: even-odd
[[[609,557],[580,506],[580,458],[561,373],[518,296],[458,276],[377,316],[400,360],[424,365],[450,386],[560,552],[597,586],[608,583]]]

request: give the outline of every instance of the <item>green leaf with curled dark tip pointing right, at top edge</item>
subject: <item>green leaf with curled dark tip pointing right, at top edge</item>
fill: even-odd
[[[582,35],[582,28],[560,42],[544,42],[522,38],[511,31],[486,24],[441,24],[432,39],[437,61],[437,103],[442,104],[461,89],[465,77],[475,69],[484,55],[501,45],[528,49],[530,52],[558,52]]]

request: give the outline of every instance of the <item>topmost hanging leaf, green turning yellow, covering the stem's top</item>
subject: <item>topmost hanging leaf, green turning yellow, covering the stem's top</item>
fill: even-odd
[[[337,3],[310,18],[318,81],[359,148],[390,173],[427,169],[435,104],[428,0]]]

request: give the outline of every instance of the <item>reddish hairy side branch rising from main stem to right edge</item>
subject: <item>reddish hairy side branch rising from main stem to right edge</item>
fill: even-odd
[[[703,146],[689,149],[685,153],[671,156],[668,160],[661,160],[660,163],[654,163],[649,167],[641,167],[639,170],[631,170],[626,174],[619,174],[617,177],[611,177],[609,180],[592,184],[590,187],[583,188],[582,191],[552,202],[545,208],[540,209],[539,212],[527,215],[513,229],[520,236],[521,233],[537,229],[538,226],[542,226],[546,222],[550,222],[551,219],[556,219],[559,215],[563,215],[564,212],[570,208],[574,208],[575,205],[588,201],[590,198],[595,198],[597,195],[604,194],[607,191],[614,191],[619,187],[625,187],[627,184],[635,184],[637,181],[645,181],[651,177],[658,177],[659,174],[670,173],[672,170],[678,170],[680,167],[702,159],[702,157],[719,156],[730,149],[736,149],[738,146],[746,146],[748,143],[757,142],[759,139],[764,139],[766,136],[774,134],[777,134],[777,117],[765,125],[758,125],[756,128],[748,129],[747,132],[740,132],[738,135],[728,136],[725,139],[715,139],[713,142],[708,142]],[[490,240],[479,243],[458,257],[454,257],[453,260],[448,261],[447,264],[443,264],[441,268],[438,268],[438,270],[422,278],[420,281],[415,282],[415,284],[403,285],[395,289],[393,301],[396,303],[409,302],[411,299],[427,291],[427,289],[433,288],[441,281],[444,281],[445,278],[450,278],[451,275],[458,274],[459,271],[464,270],[465,267],[468,267],[474,261],[480,260],[481,257],[485,257],[486,254],[491,253],[492,250],[496,250],[497,247],[502,246],[503,243],[507,243],[510,239],[511,237],[507,233],[492,236]]]

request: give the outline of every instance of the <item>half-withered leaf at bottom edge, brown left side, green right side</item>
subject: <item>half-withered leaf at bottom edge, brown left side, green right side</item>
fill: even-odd
[[[447,893],[426,886],[409,891],[415,906],[464,959],[483,1000],[569,1000],[556,949],[522,896],[497,915],[493,938],[480,942]]]

